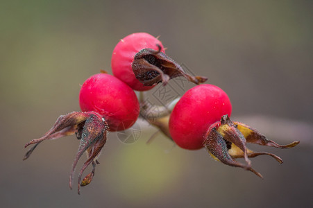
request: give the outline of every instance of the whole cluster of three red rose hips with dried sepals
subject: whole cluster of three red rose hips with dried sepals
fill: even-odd
[[[262,177],[251,168],[248,157],[270,155],[280,163],[282,159],[271,153],[253,152],[246,148],[246,142],[276,148],[291,148],[298,144],[295,141],[280,146],[257,130],[231,121],[232,106],[227,94],[214,85],[199,85],[207,78],[185,73],[177,62],[164,53],[158,38],[147,33],[134,33],[121,39],[112,53],[111,64],[114,76],[102,71],[83,83],[79,95],[81,112],[60,116],[44,137],[26,144],[35,145],[24,159],[44,140],[76,134],[80,144],[69,176],[69,187],[72,187],[78,159],[87,153],[87,161],[78,173],[78,193],[80,187],[90,184],[94,177],[94,169],[99,164],[97,158],[105,145],[108,131],[130,128],[138,119],[140,110],[145,112],[146,103],[139,103],[134,90],[142,92],[158,83],[166,85],[171,78],[178,76],[197,86],[189,89],[173,109],[149,119],[149,123],[160,128],[181,148],[196,150],[205,147],[214,159],[223,164],[245,168]],[[237,162],[235,158],[238,157],[243,157],[246,163]],[[90,164],[92,171],[81,180],[83,171]]]

